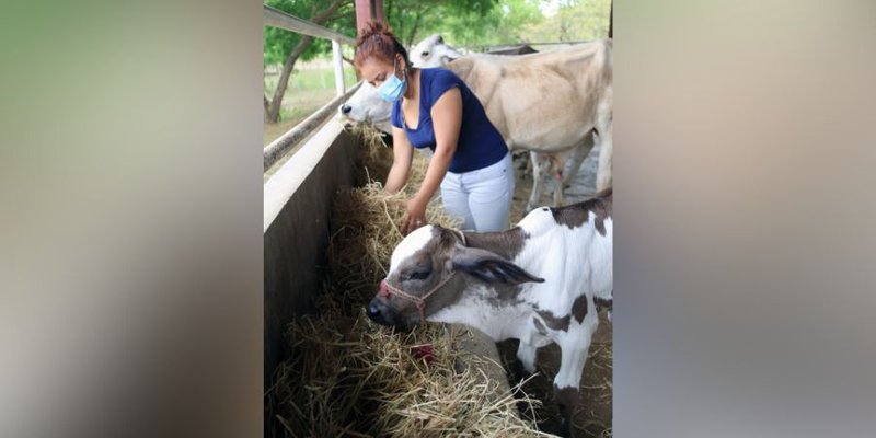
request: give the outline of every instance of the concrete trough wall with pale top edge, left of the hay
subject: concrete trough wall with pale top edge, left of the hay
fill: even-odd
[[[330,120],[265,183],[265,388],[288,356],[286,325],[314,311],[332,201],[338,187],[353,184],[358,146]]]

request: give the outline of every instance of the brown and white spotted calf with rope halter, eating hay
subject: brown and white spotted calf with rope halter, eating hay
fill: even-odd
[[[368,306],[373,321],[412,326],[466,324],[495,341],[520,339],[517,357],[535,370],[535,350],[560,345],[556,400],[568,420],[590,338],[596,301],[612,299],[612,195],[537,208],[502,232],[425,226],[395,247]]]

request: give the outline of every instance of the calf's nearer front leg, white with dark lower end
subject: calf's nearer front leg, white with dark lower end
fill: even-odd
[[[598,324],[598,321],[596,323]],[[595,324],[585,320],[584,324],[570,330],[558,342],[562,356],[560,371],[554,378],[554,397],[568,431],[572,431],[572,417],[578,405],[581,372],[587,362],[587,351],[590,349],[590,339],[595,331]]]

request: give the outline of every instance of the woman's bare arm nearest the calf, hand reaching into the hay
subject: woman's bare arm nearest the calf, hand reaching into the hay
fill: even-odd
[[[426,223],[426,206],[441,185],[453,153],[457,151],[462,126],[462,93],[458,88],[443,93],[431,107],[435,129],[435,154],[429,161],[419,191],[407,201],[407,215],[402,219],[402,230],[407,233]]]

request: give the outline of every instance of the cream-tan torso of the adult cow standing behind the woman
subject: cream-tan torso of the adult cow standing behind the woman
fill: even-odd
[[[474,91],[512,149],[553,151],[593,129],[612,80],[611,43],[515,57],[472,55],[448,67]]]

